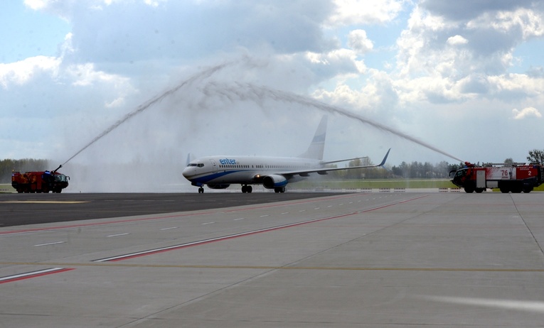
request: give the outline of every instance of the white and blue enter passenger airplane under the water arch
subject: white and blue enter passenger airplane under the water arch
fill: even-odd
[[[198,193],[204,192],[204,185],[210,189],[225,189],[232,184],[242,185],[242,192],[252,192],[252,185],[262,185],[274,190],[285,192],[289,182],[304,180],[310,173],[326,175],[330,171],[353,170],[356,168],[378,168],[385,164],[391,148],[378,165],[360,165],[348,168],[327,168],[325,165],[356,160],[366,157],[348,158],[344,160],[323,161],[325,148],[327,116],[323,116],[310,146],[305,153],[296,158],[265,157],[265,156],[236,156],[215,155],[190,160],[183,169],[183,177],[198,187]]]

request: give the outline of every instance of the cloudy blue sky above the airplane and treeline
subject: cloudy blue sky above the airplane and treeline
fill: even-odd
[[[69,163],[298,155],[327,110],[328,160],[544,148],[543,1],[26,0],[0,18],[0,158],[65,163],[135,112]]]

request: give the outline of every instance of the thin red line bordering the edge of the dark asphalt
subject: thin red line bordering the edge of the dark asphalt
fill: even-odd
[[[357,194],[359,195],[359,194]],[[0,235],[5,234],[27,234],[30,232],[36,232],[36,231],[50,231],[50,230],[61,230],[61,229],[71,229],[71,228],[81,228],[84,226],[103,226],[107,224],[119,224],[119,223],[127,223],[127,222],[141,222],[141,221],[151,221],[151,220],[159,220],[159,219],[172,219],[174,217],[196,217],[198,215],[208,215],[208,214],[215,214],[217,212],[242,212],[242,211],[248,211],[251,209],[264,209],[269,207],[282,207],[292,204],[304,204],[306,202],[320,202],[323,199],[338,199],[341,197],[354,197],[353,194],[349,195],[343,195],[343,196],[331,196],[331,197],[321,197],[320,199],[308,199],[306,201],[295,201],[295,202],[289,202],[289,203],[282,203],[282,204],[270,204],[270,205],[262,205],[262,206],[255,206],[255,207],[247,207],[243,209],[218,209],[218,211],[215,212],[201,212],[201,213],[188,213],[188,214],[176,214],[176,215],[164,215],[160,217],[145,217],[140,219],[122,219],[117,221],[108,221],[108,222],[95,222],[95,223],[82,223],[82,224],[69,224],[65,226],[50,226],[48,228],[35,228],[35,229],[21,229],[21,230],[11,230],[11,231],[0,231]]]

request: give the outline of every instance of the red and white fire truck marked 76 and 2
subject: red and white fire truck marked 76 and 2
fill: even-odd
[[[531,192],[544,182],[544,170],[540,164],[485,164],[465,162],[455,172],[452,182],[465,192],[483,192],[487,188],[498,188],[501,192]]]

